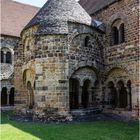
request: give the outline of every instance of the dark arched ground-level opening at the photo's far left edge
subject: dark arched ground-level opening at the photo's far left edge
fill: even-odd
[[[2,88],[2,91],[1,91],[1,105],[2,106],[7,105],[7,88],[6,87]]]

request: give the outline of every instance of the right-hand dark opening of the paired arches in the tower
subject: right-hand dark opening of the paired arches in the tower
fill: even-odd
[[[83,84],[82,89],[82,106],[87,108],[89,105],[89,88],[90,88],[90,80],[86,80]]]

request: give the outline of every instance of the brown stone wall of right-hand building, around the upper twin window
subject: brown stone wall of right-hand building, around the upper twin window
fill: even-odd
[[[109,7],[102,9],[92,15],[93,19],[104,22],[107,26],[104,40],[104,61],[105,61],[105,80],[104,85],[108,81],[114,79],[111,71],[116,70],[116,81],[130,80],[132,82],[132,106],[133,110],[138,106],[138,87],[139,87],[139,33],[138,33],[138,0],[121,0]],[[125,28],[125,42],[119,45],[111,45],[111,26],[115,20],[121,19]],[[125,77],[117,70],[125,71]],[[112,77],[112,78],[111,78]],[[125,84],[127,87],[127,85]]]

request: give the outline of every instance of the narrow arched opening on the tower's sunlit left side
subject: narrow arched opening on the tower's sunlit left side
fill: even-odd
[[[31,82],[27,82],[27,89],[28,89],[28,106],[30,109],[34,106],[34,93]]]

